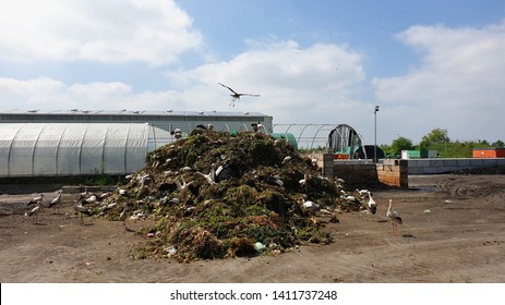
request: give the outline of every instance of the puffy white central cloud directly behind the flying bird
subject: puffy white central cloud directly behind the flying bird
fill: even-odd
[[[301,123],[342,120],[342,110],[364,82],[362,57],[347,46],[302,48],[292,40],[250,46],[251,50],[229,61],[169,73],[170,83],[187,87],[181,98],[193,108],[227,109],[230,93],[220,82],[237,91],[261,94],[260,98],[243,97],[236,109]]]

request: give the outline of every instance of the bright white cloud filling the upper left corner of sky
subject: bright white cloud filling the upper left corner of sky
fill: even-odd
[[[3,0],[0,58],[171,63],[202,45],[173,1]]]

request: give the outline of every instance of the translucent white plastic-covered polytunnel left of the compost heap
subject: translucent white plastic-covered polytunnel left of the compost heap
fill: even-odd
[[[171,141],[144,123],[0,124],[0,176],[132,173]]]

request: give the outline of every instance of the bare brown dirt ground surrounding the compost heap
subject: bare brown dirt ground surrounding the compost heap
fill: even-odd
[[[145,236],[118,221],[81,224],[70,198],[59,215],[45,208],[35,224],[23,216],[34,194],[4,194],[0,282],[505,282],[505,175],[419,175],[409,184],[371,190],[376,215],[338,215],[339,223],[326,224],[329,245],[190,264],[132,258]],[[389,198],[404,219],[398,236],[385,217]]]

